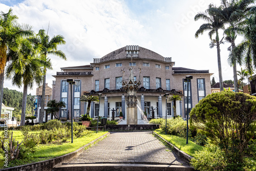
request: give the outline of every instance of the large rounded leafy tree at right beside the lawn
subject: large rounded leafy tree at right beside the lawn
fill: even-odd
[[[256,97],[223,91],[206,96],[190,112],[190,124],[205,132],[225,153],[228,163],[243,163],[256,129]]]

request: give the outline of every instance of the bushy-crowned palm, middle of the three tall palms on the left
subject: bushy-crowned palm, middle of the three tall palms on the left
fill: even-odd
[[[43,75],[41,66],[49,66],[50,64],[36,56],[40,49],[39,47],[33,47],[27,39],[19,41],[21,44],[20,50],[18,52],[9,51],[8,53],[8,55],[12,56],[12,59],[7,67],[6,77],[7,79],[12,79],[13,85],[19,88],[22,85],[24,86],[20,125],[25,125],[28,88],[32,88],[34,82],[40,83]]]

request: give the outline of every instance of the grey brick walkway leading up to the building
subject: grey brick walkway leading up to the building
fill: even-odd
[[[187,165],[151,132],[113,132],[67,164],[137,163]]]

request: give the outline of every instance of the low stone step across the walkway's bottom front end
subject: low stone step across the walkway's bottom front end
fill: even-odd
[[[167,164],[123,164],[123,163],[105,163],[105,164],[62,164],[55,167],[53,171],[110,171],[110,170],[134,170],[134,171],[194,171],[190,166],[167,165]]]

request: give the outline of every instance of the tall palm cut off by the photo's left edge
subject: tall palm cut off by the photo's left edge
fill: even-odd
[[[18,47],[14,44],[18,37],[30,36],[33,34],[31,27],[23,29],[17,24],[18,17],[13,15],[12,9],[7,13],[3,11],[0,13],[0,104],[3,102],[5,67],[6,63],[12,56],[7,55],[7,51],[17,51]],[[0,105],[2,111],[2,105]]]

